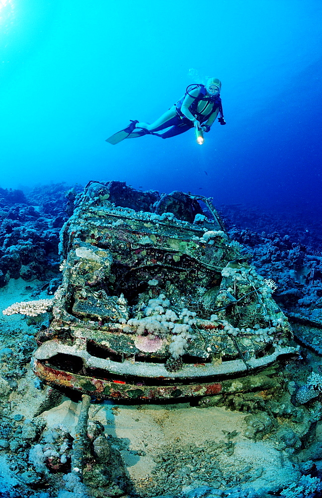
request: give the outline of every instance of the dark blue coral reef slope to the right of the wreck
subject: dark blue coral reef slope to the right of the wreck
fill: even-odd
[[[322,354],[322,238],[316,213],[263,214],[221,207],[229,235],[243,245],[256,271],[274,280],[274,299],[302,343]],[[276,227],[279,231],[276,231]]]

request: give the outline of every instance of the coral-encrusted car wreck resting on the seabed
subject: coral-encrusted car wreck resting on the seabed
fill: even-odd
[[[182,399],[244,388],[294,354],[273,282],[201,196],[90,182],[61,232],[62,285],[34,372],[98,399]]]

